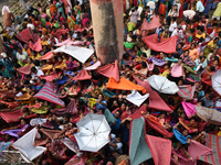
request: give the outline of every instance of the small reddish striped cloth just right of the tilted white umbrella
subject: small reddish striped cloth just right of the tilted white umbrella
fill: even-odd
[[[182,85],[179,86],[179,91],[177,92],[183,99],[192,99],[194,95],[196,86]]]

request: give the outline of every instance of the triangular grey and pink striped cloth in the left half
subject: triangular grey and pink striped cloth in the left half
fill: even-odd
[[[43,88],[33,97],[64,106],[64,102],[54,94],[53,87],[50,82],[46,82]]]

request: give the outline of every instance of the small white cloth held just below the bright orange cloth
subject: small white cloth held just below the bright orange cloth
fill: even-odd
[[[149,94],[141,96],[138,91],[131,90],[131,94],[127,96],[126,100],[139,107],[148,97]]]

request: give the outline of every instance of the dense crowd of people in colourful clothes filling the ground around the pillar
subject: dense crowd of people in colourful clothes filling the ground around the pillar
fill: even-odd
[[[130,150],[136,114],[148,121],[146,134],[169,140],[169,164],[210,163],[197,161],[188,147],[192,141],[208,146],[207,134],[221,136],[221,92],[212,78],[221,66],[221,2],[124,0],[125,53],[123,59],[109,64],[102,64],[95,51],[85,63],[56,52],[67,42],[95,50],[88,0],[51,0],[46,8],[42,3],[30,7],[22,19],[14,18],[9,7],[2,9],[0,144],[10,142],[8,147],[12,147],[36,128],[33,145],[46,151],[33,160],[35,164],[134,165]],[[22,21],[13,24],[18,19]],[[152,24],[154,20],[157,23]],[[159,25],[149,29],[150,24]],[[165,50],[155,48],[154,36]],[[172,45],[170,41],[176,42]],[[169,53],[172,46],[176,50]],[[118,70],[118,79],[99,70],[107,65],[114,68],[108,74]],[[156,89],[152,76],[159,78],[154,84],[169,81],[167,92],[161,90],[164,82]],[[178,88],[173,94],[170,84]],[[145,94],[149,98],[143,100]],[[81,151],[74,136],[80,132],[76,123],[87,113],[105,116],[110,127],[109,142],[98,152]],[[63,139],[71,140],[75,151]],[[221,161],[221,155],[217,156]],[[139,164],[154,165],[157,161],[148,158]]]

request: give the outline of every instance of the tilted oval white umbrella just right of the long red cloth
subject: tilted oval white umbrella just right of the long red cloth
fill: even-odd
[[[148,77],[147,80],[149,85],[159,92],[176,94],[177,91],[179,91],[179,88],[177,87],[176,82],[170,81],[165,76],[152,75]]]

